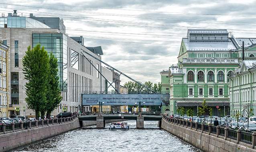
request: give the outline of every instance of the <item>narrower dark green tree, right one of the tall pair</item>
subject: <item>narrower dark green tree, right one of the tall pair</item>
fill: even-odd
[[[47,83],[47,106],[46,117],[51,119],[51,112],[58,107],[61,102],[61,95],[59,89],[58,63],[57,59],[51,53],[49,56],[49,74]]]

